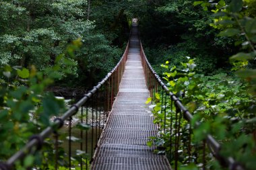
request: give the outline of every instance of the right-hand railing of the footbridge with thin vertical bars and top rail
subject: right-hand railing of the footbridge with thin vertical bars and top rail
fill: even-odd
[[[168,87],[154,71],[150,62],[148,62],[141,44],[140,49],[142,65],[150,95],[154,97],[155,94],[158,93],[162,97],[162,99],[159,100],[161,103],[160,113],[164,114],[164,116],[162,116],[163,118],[160,120],[158,128],[160,135],[165,135],[165,138],[166,136],[170,136],[170,153],[172,154],[170,155],[170,161],[174,162],[174,169],[178,169],[179,163],[197,163],[201,165],[200,169],[206,169],[206,157],[211,153],[223,167],[227,167],[230,170],[242,170],[243,167],[232,157],[222,157],[220,155],[221,145],[211,134],[207,134],[206,138],[199,142],[199,144],[192,142],[192,114],[183,103],[181,103],[179,97],[169,91]],[[183,120],[187,121],[187,128],[182,129],[184,125],[182,125],[181,122]],[[195,122],[195,127],[198,127],[199,124],[199,122]],[[182,148],[184,151],[181,151]],[[181,160],[181,157],[184,157],[184,155],[185,160]]]

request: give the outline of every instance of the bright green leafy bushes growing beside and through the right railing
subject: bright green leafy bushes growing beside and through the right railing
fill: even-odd
[[[205,76],[195,74],[194,59],[187,57],[187,62],[181,62],[180,67],[169,65],[171,61],[162,65],[166,72],[163,79],[168,85],[168,89],[176,94],[188,110],[193,113],[193,121],[189,124],[186,120],[181,121],[181,146],[179,147],[179,164],[183,169],[189,169],[187,165],[187,128],[194,128],[192,134],[191,154],[197,166],[200,166],[200,150],[197,148],[200,142],[205,139],[206,134],[212,134],[223,147],[221,155],[223,157],[233,157],[241,163],[246,169],[254,169],[253,163],[255,153],[251,151],[256,148],[255,126],[255,98],[247,93],[248,84],[237,80],[234,76],[228,76],[226,73]],[[174,160],[174,134],[175,126],[175,108],[173,103],[168,99],[166,107],[162,105],[163,96],[155,95],[153,108],[155,116],[154,122],[160,125],[160,132],[157,138],[152,138],[149,145],[156,144],[158,153],[166,153],[170,163]],[[148,100],[150,101],[150,100]],[[254,110],[254,111],[253,111]],[[164,121],[164,114],[166,120]],[[181,116],[177,114],[177,116]],[[195,121],[200,122],[195,126]],[[188,125],[187,125],[188,124]],[[172,126],[172,136],[170,129],[164,127]],[[234,152],[236,151],[236,152]],[[248,158],[248,159],[246,159]],[[192,161],[193,162],[193,161]],[[214,162],[211,155],[207,155],[207,167],[210,169],[220,169],[220,165]],[[195,168],[195,167],[194,167]],[[199,167],[198,167],[199,168]]]

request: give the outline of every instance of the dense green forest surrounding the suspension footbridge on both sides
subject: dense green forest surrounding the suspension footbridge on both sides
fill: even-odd
[[[0,161],[65,110],[51,88],[86,91],[115,67],[133,17],[150,63],[202,122],[196,140],[214,134],[255,169],[255,0],[1,1]],[[154,140],[171,157],[169,138]]]

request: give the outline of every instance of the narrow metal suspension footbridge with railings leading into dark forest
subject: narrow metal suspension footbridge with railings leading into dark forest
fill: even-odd
[[[154,124],[154,117],[145,103],[154,93],[162,94],[161,113],[164,114],[162,124]],[[168,114],[166,107],[172,114]],[[79,114],[81,124],[90,124],[92,132],[80,130],[79,155],[74,155],[71,124],[73,116]],[[127,48],[117,66],[106,75],[98,85],[86,93],[82,99],[73,104],[67,112],[55,118],[53,126],[33,135],[24,148],[5,162],[0,163],[1,170],[18,169],[16,163],[22,162],[27,155],[41,155],[46,162],[40,165],[48,169],[178,169],[179,164],[197,163],[200,169],[206,168],[206,157],[210,153],[223,167],[243,169],[232,157],[220,155],[220,144],[213,136],[207,137],[197,146],[191,142],[193,129],[190,126],[193,116],[184,107],[179,98],[168,90],[160,77],[150,66],[143,52],[137,22],[133,22]],[[181,120],[188,122],[187,132],[181,132]],[[66,121],[66,122],[65,122]],[[59,131],[64,124],[68,125],[67,151],[61,156]],[[195,123],[197,126],[199,122]],[[152,136],[170,134],[170,151],[173,155],[154,153],[156,146],[147,146]],[[187,134],[186,138],[183,134]],[[42,153],[44,140],[53,140],[53,159]],[[181,147],[185,151],[181,152]],[[81,154],[86,153],[87,155]],[[181,160],[181,155],[187,155]],[[195,155],[197,155],[195,158]],[[73,163],[73,160],[78,163]],[[171,164],[170,164],[170,163]],[[22,163],[20,164],[22,165]],[[37,169],[26,167],[26,169]]]

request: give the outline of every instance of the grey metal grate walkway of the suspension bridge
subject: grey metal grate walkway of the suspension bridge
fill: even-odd
[[[146,87],[136,24],[131,30],[129,54],[119,93],[95,154],[92,169],[170,169],[163,155],[147,146],[150,136],[156,136],[145,101],[150,97]]]

